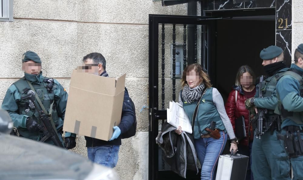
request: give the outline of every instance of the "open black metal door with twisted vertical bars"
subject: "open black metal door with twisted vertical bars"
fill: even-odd
[[[163,124],[164,120],[166,119],[166,108],[164,101],[165,82],[167,82],[167,79],[171,80],[172,93],[169,96],[172,97],[171,100],[178,101],[179,91],[176,91],[176,72],[178,72],[177,75],[179,74],[180,76],[181,66],[183,69],[188,65],[188,59],[186,56],[186,29],[188,26],[194,27],[196,29],[194,41],[195,56],[193,60],[190,60],[190,62],[197,62],[197,59],[199,59],[197,57],[197,54],[199,54],[197,51],[200,51],[198,49],[201,48],[201,65],[208,72],[210,77],[213,77],[212,71],[209,69],[209,67],[211,67],[211,62],[215,62],[212,60],[215,59],[215,21],[217,19],[221,18],[210,18],[202,16],[149,15],[149,180],[183,179],[172,172],[169,166],[162,160],[163,152],[161,149],[159,149],[158,145],[155,142],[155,138],[157,137],[159,130],[161,130],[161,124]],[[197,26],[199,26],[200,31],[197,31]],[[172,36],[165,37],[165,27],[168,27],[169,29],[172,28]],[[182,31],[183,34],[181,34],[183,35],[183,51],[180,52],[176,52],[176,27],[178,28],[179,32],[180,29],[181,31],[182,28],[184,29],[184,31]],[[198,41],[199,39],[197,40],[198,33],[201,33],[201,41]],[[159,44],[159,38],[162,41],[161,44]],[[171,49],[165,49],[165,38],[171,39]],[[198,42],[201,43],[201,46],[197,44]],[[161,54],[159,54],[160,46]],[[167,61],[165,61],[165,50],[171,51],[172,56],[171,61],[166,64],[165,62]],[[183,63],[179,61],[176,64],[176,57],[179,55],[178,53],[182,53]],[[159,63],[159,57],[161,57],[161,63]],[[159,76],[159,67],[161,67],[162,70],[161,76]],[[167,72],[165,71],[165,67],[172,69],[171,79],[170,77],[165,77],[165,72]],[[161,84],[159,84],[160,78]],[[161,99],[159,99],[159,87],[161,90]],[[160,107],[159,102],[161,104]],[[200,175],[196,175],[195,172],[188,172],[186,177],[187,179],[191,180],[200,179]]]

